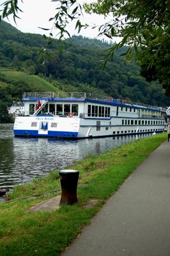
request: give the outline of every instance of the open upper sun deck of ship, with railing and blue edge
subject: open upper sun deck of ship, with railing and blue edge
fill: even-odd
[[[98,95],[95,93],[87,92],[26,92],[23,93],[22,100],[91,100],[92,102],[107,103],[116,106],[125,106],[131,108],[143,108],[154,111],[166,111],[166,108],[158,106],[151,106],[139,102],[133,102],[131,100],[113,99],[105,95]]]

